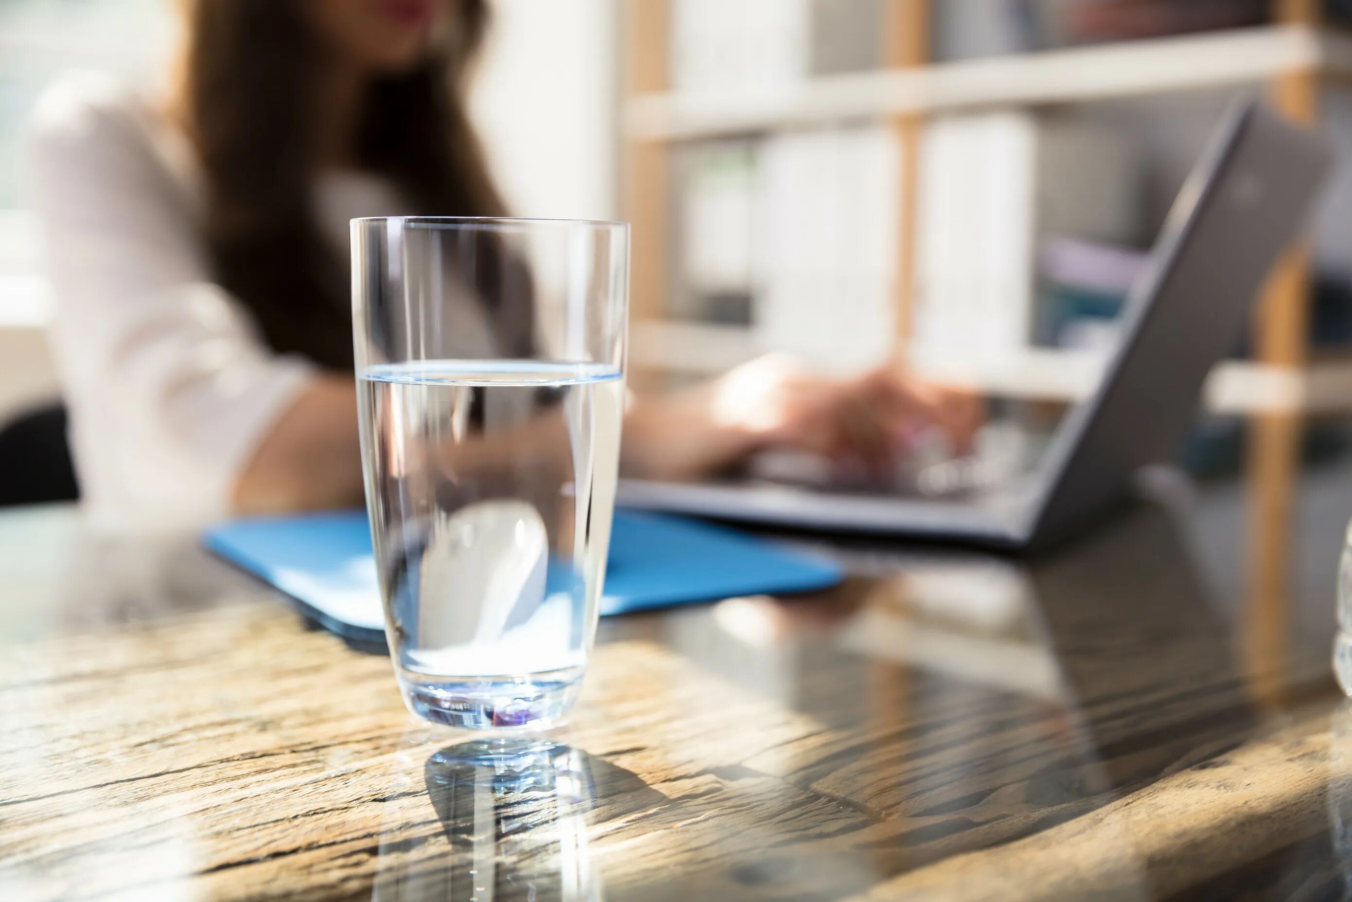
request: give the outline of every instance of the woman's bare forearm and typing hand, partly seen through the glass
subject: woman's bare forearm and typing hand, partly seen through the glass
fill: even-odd
[[[242,514],[360,504],[361,449],[353,381],[316,377],[258,445],[235,483]],[[886,467],[925,425],[961,444],[976,425],[971,406],[891,369],[853,380],[804,373],[768,357],[691,391],[638,400],[625,418],[621,469],[646,479],[698,479],[752,452],[784,445]],[[566,467],[566,430],[554,411],[522,426],[446,446],[438,469],[493,477],[521,452],[537,467]]]

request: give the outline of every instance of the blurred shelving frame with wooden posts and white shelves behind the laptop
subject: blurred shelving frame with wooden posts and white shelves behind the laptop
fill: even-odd
[[[1321,24],[1313,0],[1276,0],[1275,24],[1194,35],[927,64],[932,0],[882,0],[888,31],[875,70],[817,76],[773,89],[673,91],[668,84],[671,0],[629,0],[629,77],[621,104],[626,149],[625,215],[634,223],[634,362],[639,371],[708,373],[772,350],[753,330],[677,322],[664,315],[673,189],[665,161],[680,147],[741,137],[808,131],[854,122],[896,130],[902,227],[896,252],[896,353],[922,373],[991,395],[1073,400],[1092,385],[1092,354],[1029,349],[990,361],[937,365],[911,335],[915,273],[915,153],[927,118],[963,111],[1052,107],[1199,89],[1267,87],[1275,105],[1315,120],[1325,82],[1352,81],[1352,35]],[[909,151],[907,151],[909,150]],[[1257,314],[1257,361],[1218,369],[1207,403],[1224,412],[1352,410],[1352,361],[1305,361],[1309,258],[1283,261]],[[1057,391],[1048,391],[1056,388]]]

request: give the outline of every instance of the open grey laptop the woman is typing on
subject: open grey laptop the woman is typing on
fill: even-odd
[[[1056,541],[1178,457],[1202,383],[1238,342],[1264,277],[1305,223],[1329,154],[1255,101],[1237,104],[1174,203],[1122,312],[1092,396],[1061,418],[1037,462],[925,498],[803,481],[625,480],[630,507],[721,519],[911,536],[1006,549]]]

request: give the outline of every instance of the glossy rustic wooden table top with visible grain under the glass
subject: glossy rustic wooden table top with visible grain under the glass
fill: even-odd
[[[1052,556],[836,544],[610,619],[522,772],[187,541],[0,515],[0,899],[1344,898],[1347,467],[1255,598],[1238,490]]]

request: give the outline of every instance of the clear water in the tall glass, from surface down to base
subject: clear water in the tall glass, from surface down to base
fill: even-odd
[[[623,376],[606,364],[368,366],[362,453],[404,701],[465,728],[544,728],[595,634]]]

